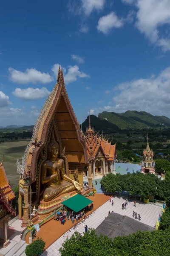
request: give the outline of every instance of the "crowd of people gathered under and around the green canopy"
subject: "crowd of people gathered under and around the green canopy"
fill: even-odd
[[[62,225],[65,224],[66,219],[69,220],[71,219],[72,224],[74,224],[74,221],[76,220],[77,222],[82,219],[86,218],[86,213],[88,211],[91,211],[94,209],[94,204],[92,203],[90,206],[86,206],[84,209],[82,209],[80,212],[74,212],[74,211],[67,211],[67,212],[60,212],[60,214],[54,212],[54,219],[57,221],[60,221]]]

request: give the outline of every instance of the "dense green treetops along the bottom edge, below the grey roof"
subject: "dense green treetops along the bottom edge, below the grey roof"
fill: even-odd
[[[107,236],[96,236],[95,230],[81,235],[75,232],[59,249],[61,256],[169,256],[170,229],[137,231],[129,236],[118,236],[114,240]],[[158,246],[158,243],[161,243]]]

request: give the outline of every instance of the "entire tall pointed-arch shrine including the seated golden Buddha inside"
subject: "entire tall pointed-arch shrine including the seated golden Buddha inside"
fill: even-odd
[[[88,164],[85,142],[66,92],[62,70],[34,125],[31,142],[25,150],[20,173],[19,217],[28,224],[29,206],[38,207],[40,219],[59,209],[61,202],[82,189],[83,168]],[[74,179],[78,169],[79,183]]]

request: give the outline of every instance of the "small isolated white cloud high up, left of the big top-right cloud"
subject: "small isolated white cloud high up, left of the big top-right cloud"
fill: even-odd
[[[107,35],[111,29],[123,26],[123,20],[119,19],[114,12],[99,18],[97,30]]]

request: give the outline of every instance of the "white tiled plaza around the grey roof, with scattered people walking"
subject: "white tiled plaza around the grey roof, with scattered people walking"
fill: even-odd
[[[147,224],[151,227],[155,227],[156,220],[159,217],[159,213],[161,212],[162,204],[144,204],[141,202],[136,203],[136,207],[134,206],[133,202],[129,202],[127,205],[127,209],[122,209],[122,203],[125,203],[125,199],[122,198],[113,198],[114,204],[113,207],[110,201],[107,201],[101,207],[96,209],[93,213],[91,213],[85,221],[80,222],[79,224],[72,227],[68,230],[64,235],[62,235],[57,241],[55,241],[48,249],[42,253],[43,256],[60,256],[59,248],[62,246],[62,243],[68,237],[70,238],[71,235],[78,231],[79,233],[83,233],[85,231],[85,225],[88,228],[94,228],[99,226],[99,224],[104,221],[105,217],[108,216],[108,211],[116,212],[121,215],[126,215],[130,218],[133,218],[133,210],[141,215],[141,222]],[[136,219],[136,221],[139,221]],[[38,236],[38,233],[37,233]]]

